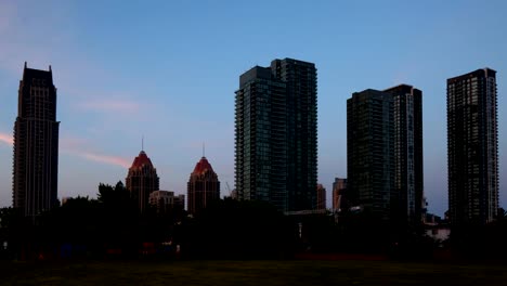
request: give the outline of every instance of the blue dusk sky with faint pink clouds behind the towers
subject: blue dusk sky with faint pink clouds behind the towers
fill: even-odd
[[[52,66],[58,197],[125,182],[144,150],[160,188],[186,193],[206,157],[234,188],[234,92],[274,58],[312,62],[318,182],[332,205],[347,177],[347,99],[400,83],[422,90],[425,196],[447,209],[446,79],[497,70],[499,199],[507,206],[507,1],[0,0],[0,207],[12,204],[12,131],[24,62]]]

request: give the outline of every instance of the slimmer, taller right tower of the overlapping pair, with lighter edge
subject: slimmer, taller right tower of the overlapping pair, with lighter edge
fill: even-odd
[[[396,220],[422,222],[422,92],[408,84],[385,90],[392,94],[394,120],[394,188]]]

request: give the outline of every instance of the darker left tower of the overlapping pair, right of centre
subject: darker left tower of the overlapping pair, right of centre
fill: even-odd
[[[384,221],[392,218],[394,190],[393,100],[365,90],[347,101],[347,200]]]

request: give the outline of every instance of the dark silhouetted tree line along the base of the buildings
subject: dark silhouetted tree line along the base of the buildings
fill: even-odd
[[[100,184],[96,199],[69,198],[32,219],[0,209],[0,256],[8,259],[140,258],[290,259],[298,253],[382,255],[505,260],[507,213],[487,225],[455,229],[438,244],[422,225],[392,224],[375,213],[284,216],[265,202],[224,198],[188,216],[183,209],[139,212],[121,182]],[[6,243],[6,245],[5,245]]]

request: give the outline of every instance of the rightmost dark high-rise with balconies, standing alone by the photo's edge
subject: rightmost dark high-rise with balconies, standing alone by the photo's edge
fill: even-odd
[[[498,209],[496,72],[447,79],[448,213],[453,225],[491,222]]]

